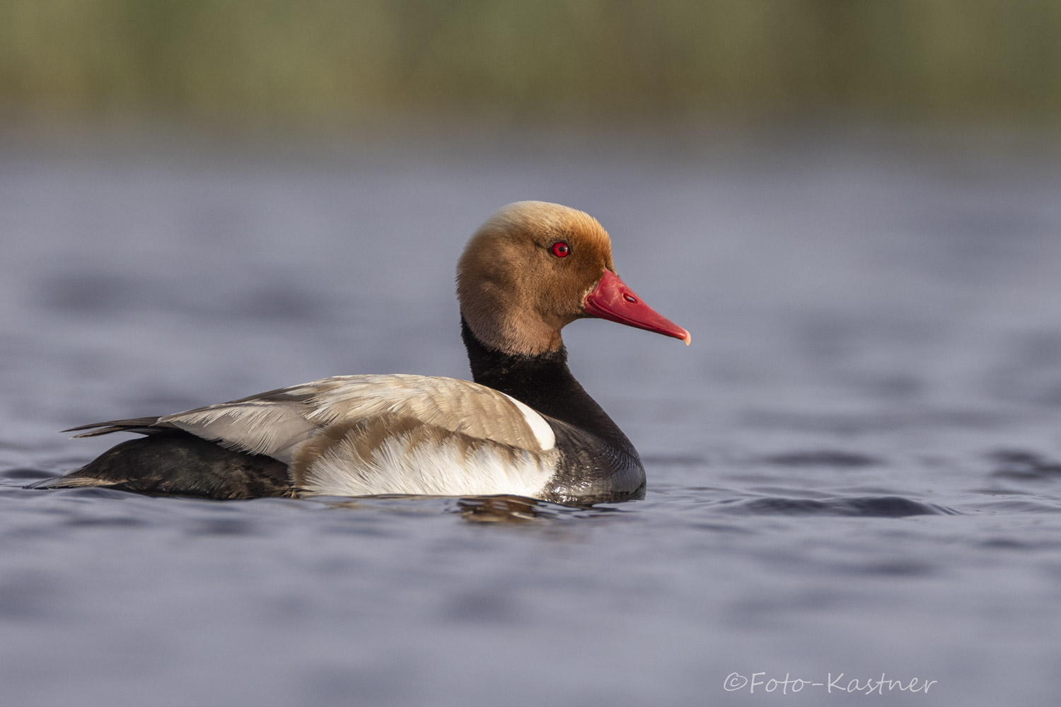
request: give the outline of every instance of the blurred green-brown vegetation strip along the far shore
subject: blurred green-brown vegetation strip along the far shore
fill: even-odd
[[[1061,118],[1061,0],[0,0],[0,119]]]

